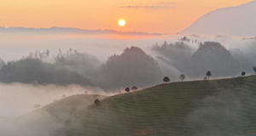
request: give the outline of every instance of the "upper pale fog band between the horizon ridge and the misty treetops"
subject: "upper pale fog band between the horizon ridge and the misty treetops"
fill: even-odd
[[[113,54],[121,54],[122,51],[131,46],[143,48],[148,54],[155,43],[178,42],[180,35],[162,36],[114,36],[114,35],[49,35],[49,34],[24,34],[9,33],[0,34],[0,58],[7,60],[20,59],[36,50],[44,51],[49,49],[51,54],[59,53],[59,50],[66,52],[69,48],[77,49],[79,52],[94,54],[98,59],[105,61]],[[242,40],[241,37],[195,37],[189,39],[198,42],[215,41],[222,43],[226,48],[242,48],[246,44],[254,43],[253,40]],[[198,44],[189,44],[198,47]],[[247,49],[247,48],[244,48]]]

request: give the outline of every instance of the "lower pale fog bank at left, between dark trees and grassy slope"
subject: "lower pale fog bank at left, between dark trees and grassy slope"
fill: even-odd
[[[34,105],[48,105],[74,94],[106,94],[101,88],[79,85],[32,85],[0,83],[0,118],[10,119],[35,110]]]

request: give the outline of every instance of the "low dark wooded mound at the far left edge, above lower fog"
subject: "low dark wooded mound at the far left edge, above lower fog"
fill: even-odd
[[[77,71],[69,71],[60,65],[40,59],[25,58],[8,62],[0,70],[0,82],[23,82],[35,84],[81,84],[92,85],[89,79]]]

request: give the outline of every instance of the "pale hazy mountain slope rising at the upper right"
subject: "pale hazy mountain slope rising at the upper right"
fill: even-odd
[[[203,15],[178,34],[256,36],[256,1],[236,7],[219,8]]]

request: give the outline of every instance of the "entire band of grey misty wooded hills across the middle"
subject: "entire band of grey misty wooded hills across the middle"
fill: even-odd
[[[186,44],[190,42],[188,37],[183,37],[181,41],[174,44],[164,42],[161,46],[155,44],[153,47],[154,51],[160,53],[157,59],[161,63],[172,65],[175,70],[184,73],[175,76],[179,77],[181,82],[186,76],[191,78],[204,76],[201,71],[210,69],[216,77],[233,77],[237,71],[241,71],[237,59],[234,59],[230,51],[220,43],[200,43],[200,47],[195,50]],[[253,66],[253,70],[256,73],[256,66]],[[211,71],[207,71],[206,79],[208,80],[212,76]],[[163,75],[163,69],[162,67],[160,69],[158,62],[137,47],[125,48],[122,54],[110,56],[104,64],[101,64],[95,56],[80,53],[73,48],[69,48],[65,53],[60,49],[59,53],[53,55],[51,59],[49,50],[36,51],[23,59],[8,63],[0,59],[0,82],[6,83],[61,85],[77,83],[110,90],[132,87],[134,84],[143,88],[160,82]],[[241,73],[241,76],[245,75],[245,72]],[[164,82],[170,82],[170,80],[172,79],[165,77]],[[137,87],[131,90],[137,90]],[[126,92],[130,92],[130,88],[129,91],[127,90],[125,89]]]

